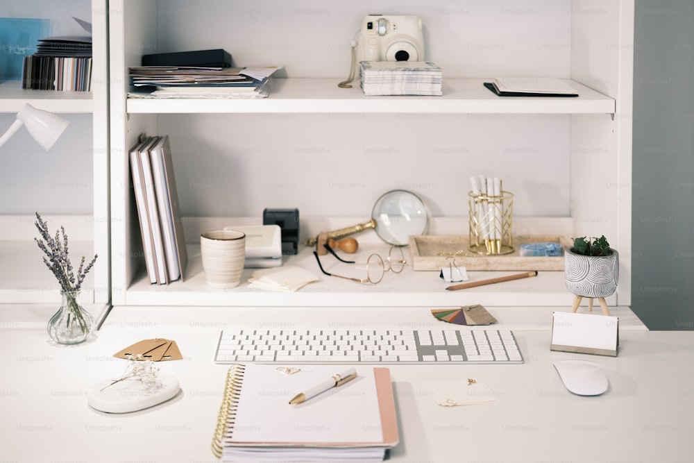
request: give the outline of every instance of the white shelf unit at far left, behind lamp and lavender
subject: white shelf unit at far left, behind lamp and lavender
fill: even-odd
[[[61,140],[46,156],[70,153],[70,162],[88,162],[91,166],[91,179],[74,180],[69,169],[74,166],[62,162],[60,170],[42,173],[51,178],[49,185],[42,184],[42,191],[35,192],[30,199],[17,198],[22,212],[11,213],[0,211],[0,323],[1,326],[30,326],[32,323],[46,323],[60,305],[60,287],[48,269],[45,268],[41,253],[33,237],[37,235],[34,226],[34,212],[40,212],[42,218],[52,230],[65,226],[70,239],[70,251],[73,261],[81,255],[90,258],[99,255],[97,264],[85,280],[81,301],[95,317],[105,314],[110,306],[110,226],[109,226],[109,159],[108,159],[108,1],[107,0],[70,0],[60,4],[56,9],[53,2],[31,0],[22,4],[0,7],[0,15],[9,17],[38,17],[51,20],[52,35],[78,34],[80,29],[71,19],[71,15],[92,22],[92,40],[94,62],[92,64],[91,92],[52,92],[39,90],[22,90],[20,81],[2,81],[0,83],[0,113],[5,119],[12,120],[13,115],[29,103],[35,108],[65,115],[77,124],[70,124]],[[85,17],[91,13],[91,17]],[[66,24],[70,22],[69,25]],[[58,24],[58,28],[55,24]],[[67,27],[67,28],[66,28]],[[4,120],[4,119],[3,119]],[[85,122],[86,121],[86,122]],[[82,128],[90,133],[80,133]],[[24,155],[40,151],[31,137],[20,131],[0,151],[6,162],[12,155]],[[62,142],[62,143],[61,143]],[[18,152],[19,150],[19,152]],[[73,157],[74,155],[74,157]],[[39,158],[39,159],[41,159]],[[22,160],[12,160],[22,162]],[[39,161],[41,162],[41,161]],[[14,167],[12,167],[14,168]],[[15,176],[17,184],[35,176],[33,165],[24,167]],[[6,173],[8,171],[6,170]],[[10,170],[10,172],[12,172]],[[26,178],[25,178],[26,176]],[[62,185],[61,182],[65,182]],[[66,212],[69,207],[60,206],[56,210],[45,211],[42,195],[58,196],[51,198],[60,203],[60,187],[72,187],[75,183],[92,184],[93,188],[86,208],[90,213],[73,214]],[[67,199],[62,201],[67,203]],[[26,210],[25,210],[26,209]]]

